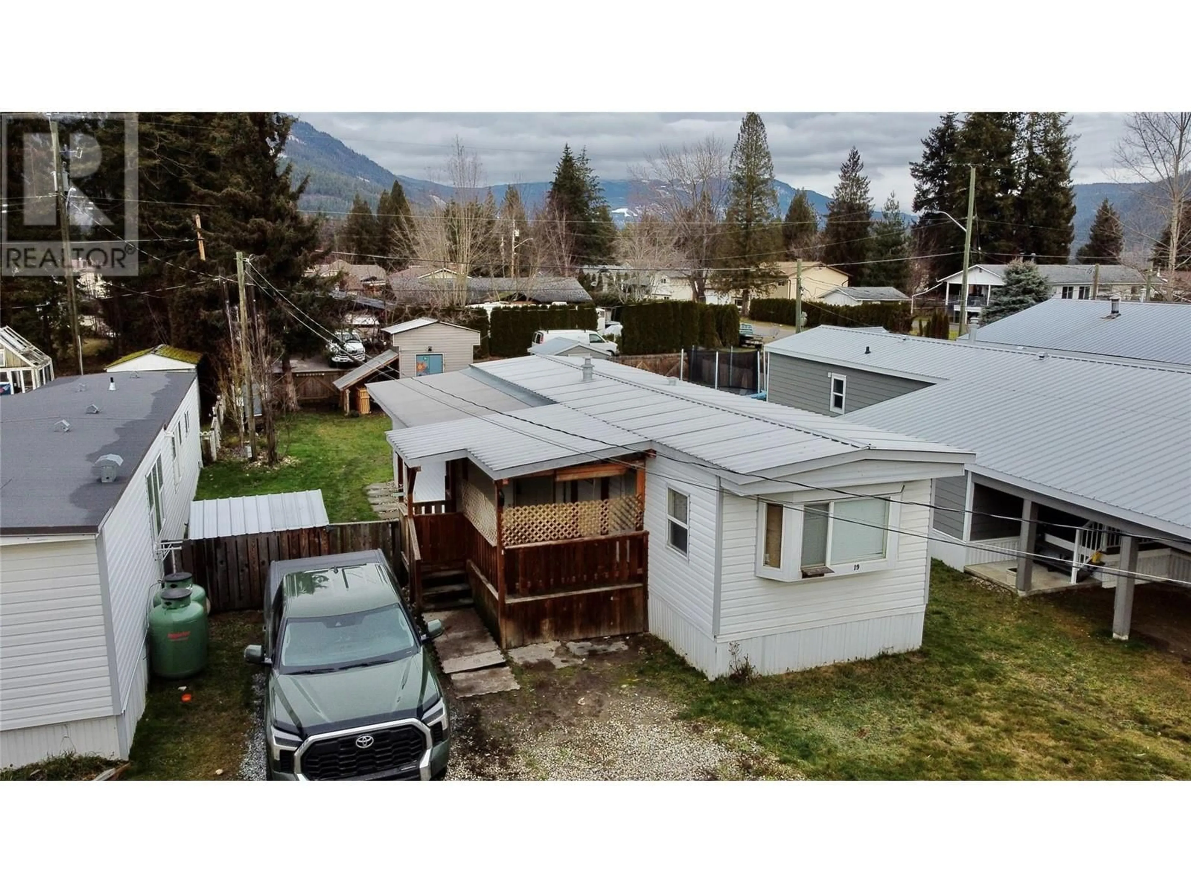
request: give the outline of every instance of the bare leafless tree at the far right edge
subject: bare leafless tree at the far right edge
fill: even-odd
[[[1176,282],[1184,207],[1191,202],[1191,112],[1134,112],[1117,144],[1117,168],[1148,183],[1143,196],[1170,226],[1167,275]]]

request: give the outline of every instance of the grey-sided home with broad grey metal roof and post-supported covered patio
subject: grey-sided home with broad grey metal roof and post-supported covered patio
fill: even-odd
[[[1054,586],[1116,587],[1120,638],[1136,582],[1191,582],[1191,369],[836,326],[766,351],[773,402],[975,454],[934,482],[934,557],[1029,593],[1019,557],[1056,551]]]

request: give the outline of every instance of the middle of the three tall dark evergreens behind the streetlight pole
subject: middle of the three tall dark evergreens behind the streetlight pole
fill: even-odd
[[[967,166],[977,166],[979,227],[972,233],[972,263],[1009,263],[1021,254],[1017,242],[1017,131],[1021,120],[1021,112],[969,112],[960,129],[956,155],[965,181],[964,213],[967,212]]]

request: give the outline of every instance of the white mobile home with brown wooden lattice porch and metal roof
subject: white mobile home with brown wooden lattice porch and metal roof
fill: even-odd
[[[503,647],[648,626],[715,677],[922,641],[930,482],[969,454],[590,357],[369,391],[414,595],[466,573]]]

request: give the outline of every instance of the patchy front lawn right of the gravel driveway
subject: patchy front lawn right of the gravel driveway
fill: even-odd
[[[936,562],[919,651],[709,683],[650,639],[628,672],[810,779],[1191,779],[1191,673],[1110,620]]]

